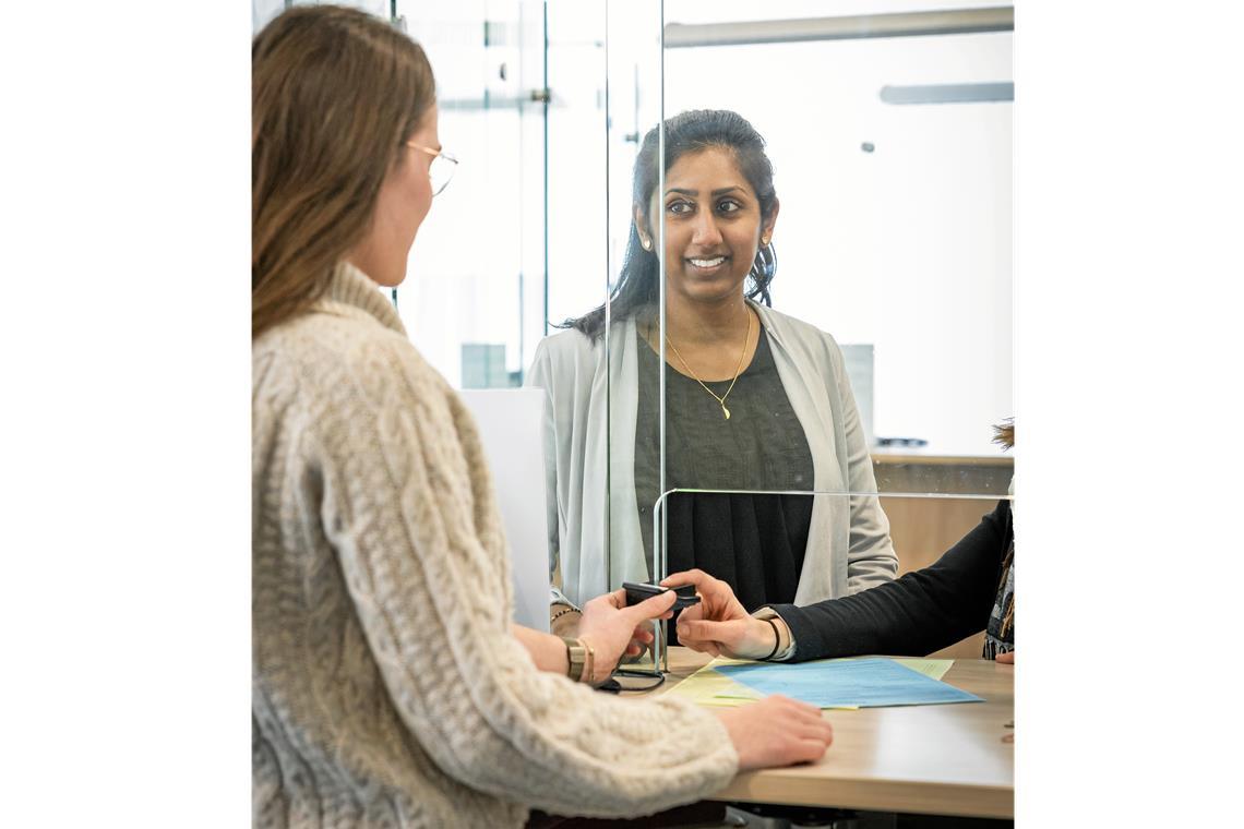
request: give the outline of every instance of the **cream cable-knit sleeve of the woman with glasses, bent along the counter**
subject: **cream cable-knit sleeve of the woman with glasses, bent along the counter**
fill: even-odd
[[[725,785],[715,716],[539,671],[509,633],[509,564],[473,423],[404,338],[346,354],[315,424],[316,516],[391,703],[433,762],[559,814],[656,812]]]

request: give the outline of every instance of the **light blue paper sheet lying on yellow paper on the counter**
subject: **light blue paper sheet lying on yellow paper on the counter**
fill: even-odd
[[[984,701],[891,659],[826,659],[794,665],[755,662],[722,665],[717,670],[763,694],[784,694],[821,708]]]

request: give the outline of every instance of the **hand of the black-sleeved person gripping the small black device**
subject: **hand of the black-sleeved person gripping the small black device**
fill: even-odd
[[[712,656],[736,659],[760,659],[774,651],[774,626],[749,615],[722,579],[695,569],[674,573],[661,584],[694,584],[700,597],[699,604],[678,616],[679,644]]]

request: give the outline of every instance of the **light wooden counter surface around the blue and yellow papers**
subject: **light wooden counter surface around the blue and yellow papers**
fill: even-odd
[[[675,686],[708,662],[669,651]],[[717,800],[875,812],[1013,818],[1015,812],[1014,666],[957,660],[943,681],[984,702],[825,711],[833,744],[815,764],[744,772]]]

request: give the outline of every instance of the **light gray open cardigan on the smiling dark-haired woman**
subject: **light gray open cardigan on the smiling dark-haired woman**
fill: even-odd
[[[877,482],[841,349],[806,322],[756,303],[751,307],[769,334],[778,375],[804,426],[815,491],[851,493],[816,498],[795,604],[891,580],[898,558],[886,513],[871,495]],[[560,570],[556,587],[575,603],[648,575],[634,495],[636,348],[634,321],[615,323],[606,372],[605,338],[593,343],[578,331],[566,331],[540,343],[527,375],[529,385],[549,395],[550,566]]]

